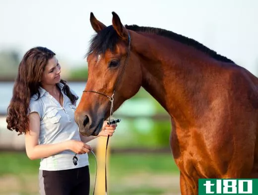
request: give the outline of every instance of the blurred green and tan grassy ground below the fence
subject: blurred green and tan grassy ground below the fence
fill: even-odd
[[[25,152],[0,152],[0,195],[37,195],[39,162]],[[92,154],[89,162],[92,192],[96,174]],[[111,153],[108,165],[110,195],[179,192],[179,172],[170,153]]]

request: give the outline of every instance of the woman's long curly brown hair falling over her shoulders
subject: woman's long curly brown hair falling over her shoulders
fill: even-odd
[[[19,134],[26,133],[29,130],[29,103],[34,94],[40,98],[40,80],[48,63],[48,60],[56,54],[45,47],[35,47],[30,49],[24,55],[18,68],[18,75],[15,79],[12,98],[7,108],[7,129],[16,130]],[[69,97],[72,104],[78,99],[70,92],[66,81],[60,81],[64,84],[65,94]]]

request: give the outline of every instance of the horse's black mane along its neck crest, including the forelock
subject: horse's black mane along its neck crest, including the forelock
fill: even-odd
[[[169,39],[173,39],[180,43],[186,44],[188,46],[194,47],[196,50],[204,52],[205,54],[209,55],[210,57],[226,63],[234,63],[230,59],[217,54],[215,51],[207,48],[206,46],[202,45],[201,43],[195,41],[194,39],[190,39],[183,35],[161,29],[161,28],[153,28],[153,27],[141,27],[137,25],[126,25],[125,26],[128,30],[136,31],[136,32],[145,32],[150,34],[156,34],[159,36],[164,36]],[[112,52],[115,51],[116,44],[119,41],[119,37],[113,28],[112,25],[104,28],[102,31],[97,33],[92,39],[89,51],[87,53],[90,54],[91,52],[96,52],[96,54],[104,54],[108,49]],[[235,63],[234,63],[235,64]]]

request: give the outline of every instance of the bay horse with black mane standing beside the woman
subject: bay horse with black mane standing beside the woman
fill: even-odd
[[[258,178],[258,78],[193,39],[112,14],[108,27],[90,14],[80,133],[97,135],[109,100],[115,111],[142,86],[171,116],[182,195],[197,195],[199,178]]]

